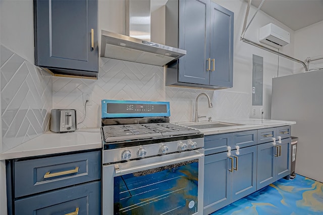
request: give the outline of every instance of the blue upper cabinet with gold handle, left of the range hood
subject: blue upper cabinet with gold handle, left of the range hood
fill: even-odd
[[[97,0],[34,0],[35,65],[97,77]]]

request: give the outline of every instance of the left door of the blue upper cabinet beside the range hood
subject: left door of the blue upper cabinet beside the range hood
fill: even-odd
[[[209,84],[209,4],[209,0],[179,0],[179,48],[187,52],[179,59],[179,82]]]

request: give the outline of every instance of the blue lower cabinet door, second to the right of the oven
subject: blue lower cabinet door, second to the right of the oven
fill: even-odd
[[[232,202],[256,191],[257,146],[232,151],[234,171],[232,173]]]

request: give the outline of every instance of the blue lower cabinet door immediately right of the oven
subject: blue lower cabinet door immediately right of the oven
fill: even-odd
[[[231,203],[231,159],[227,152],[204,158],[203,214],[209,214]]]

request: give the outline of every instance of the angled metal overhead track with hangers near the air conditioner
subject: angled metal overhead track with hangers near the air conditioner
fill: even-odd
[[[241,33],[240,40],[241,40],[241,41],[243,41],[243,42],[245,42],[245,43],[248,43],[248,44],[250,44],[250,45],[253,45],[253,46],[256,46],[256,47],[258,47],[258,48],[261,48],[261,49],[263,49],[263,50],[266,50],[266,51],[269,51],[269,52],[271,52],[271,53],[274,53],[274,54],[276,54],[276,55],[278,55],[278,56],[281,56],[281,57],[283,57],[283,58],[286,58],[286,59],[289,59],[289,60],[291,60],[291,61],[294,61],[294,62],[296,62],[296,63],[300,63],[301,65],[303,65],[303,67],[304,67],[305,71],[308,71],[308,66],[307,66],[303,61],[298,60],[298,59],[293,58],[293,57],[290,57],[290,56],[288,56],[288,55],[285,55],[285,54],[284,54],[284,53],[282,53],[282,52],[279,52],[279,51],[274,50],[274,49],[272,49],[272,48],[268,48],[268,47],[266,47],[266,46],[264,46],[264,45],[261,45],[261,44],[259,44],[259,43],[256,43],[256,42],[253,42],[253,41],[251,41],[251,40],[249,40],[249,39],[244,38],[244,34],[245,34],[245,32],[247,31],[247,29],[248,29],[249,25],[251,24],[251,22],[252,22],[253,18],[256,16],[257,12],[259,11],[259,9],[260,9],[260,7],[261,7],[261,5],[262,5],[262,3],[263,3],[264,1],[265,1],[265,0],[262,0],[262,2],[260,3],[260,5],[259,5],[259,7],[258,7],[257,11],[254,13],[253,17],[251,18],[251,20],[250,20],[249,24],[248,24],[248,25],[247,25],[247,27],[246,27],[247,18],[248,18],[248,15],[249,15],[249,10],[250,10],[250,5],[251,5],[251,0],[248,0],[248,6],[247,6],[247,10],[246,10],[246,14],[245,14],[244,22],[243,22],[243,27],[242,27],[242,33]],[[323,56],[322,56],[322,57],[323,57]],[[322,59],[323,59],[323,58],[322,58]],[[318,59],[317,59],[317,60],[318,60]],[[306,62],[307,62],[307,61],[306,61]],[[308,63],[309,63],[309,61],[307,62],[307,64],[308,64]]]

